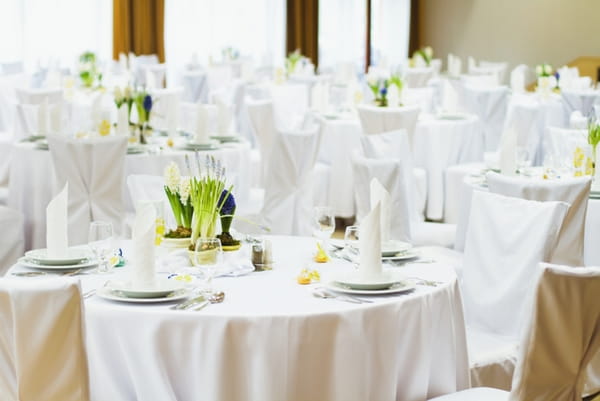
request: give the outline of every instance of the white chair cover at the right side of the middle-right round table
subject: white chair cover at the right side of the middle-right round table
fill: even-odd
[[[465,108],[476,114],[482,124],[485,151],[496,151],[506,117],[508,88],[477,88],[466,85],[463,94]]]

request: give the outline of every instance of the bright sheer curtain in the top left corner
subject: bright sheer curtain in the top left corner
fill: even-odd
[[[1,0],[0,62],[73,68],[84,51],[112,54],[112,1]]]

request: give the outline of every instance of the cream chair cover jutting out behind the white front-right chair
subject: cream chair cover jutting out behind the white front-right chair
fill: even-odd
[[[583,265],[585,216],[591,186],[589,177],[550,181],[489,172],[486,178],[493,193],[536,201],[561,201],[571,205],[548,261],[571,266]]]

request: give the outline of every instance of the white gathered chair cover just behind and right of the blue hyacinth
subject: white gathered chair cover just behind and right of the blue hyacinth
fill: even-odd
[[[313,171],[321,132],[279,132],[269,153],[261,215],[274,234],[313,232]]]

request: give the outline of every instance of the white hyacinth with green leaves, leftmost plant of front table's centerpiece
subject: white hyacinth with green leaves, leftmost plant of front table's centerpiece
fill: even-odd
[[[175,217],[177,228],[169,230],[165,234],[165,238],[169,239],[188,239],[192,236],[192,200],[190,197],[191,182],[189,177],[181,176],[179,167],[176,163],[171,162],[165,169],[165,193],[171,211]]]

